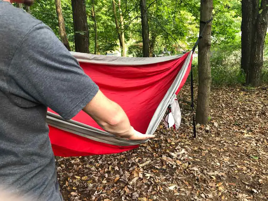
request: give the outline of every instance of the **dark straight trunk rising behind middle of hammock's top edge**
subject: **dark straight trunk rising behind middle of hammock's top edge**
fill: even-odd
[[[146,0],[140,0],[143,57],[149,57],[149,27]]]

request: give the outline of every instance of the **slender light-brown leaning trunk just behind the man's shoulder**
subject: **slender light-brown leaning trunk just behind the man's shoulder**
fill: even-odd
[[[60,0],[55,0],[55,5],[56,5],[56,11],[57,11],[57,16],[58,16],[58,21],[59,21],[59,31],[60,31],[60,38],[64,46],[71,51],[69,41],[67,39],[67,34],[66,34],[66,29],[65,29],[65,23],[64,23],[64,18],[62,15],[62,9],[61,9],[61,1]]]

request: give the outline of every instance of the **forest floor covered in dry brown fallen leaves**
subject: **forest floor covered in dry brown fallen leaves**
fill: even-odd
[[[188,84],[179,98],[190,101]],[[191,110],[182,108],[178,131],[160,125],[138,149],[57,157],[64,199],[268,200],[268,86],[211,88],[210,103],[210,121],[197,125],[197,138]]]

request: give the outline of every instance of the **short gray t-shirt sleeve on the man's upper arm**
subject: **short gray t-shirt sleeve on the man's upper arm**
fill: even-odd
[[[18,43],[8,72],[12,88],[20,88],[25,97],[50,107],[64,119],[75,116],[99,90],[43,23],[32,27]]]

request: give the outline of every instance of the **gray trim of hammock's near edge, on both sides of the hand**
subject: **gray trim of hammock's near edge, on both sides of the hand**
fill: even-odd
[[[187,67],[189,66],[189,63],[191,61],[191,56],[192,56],[192,52],[190,52],[190,54],[186,58],[180,72],[176,76],[172,85],[166,92],[164,98],[162,99],[157,109],[155,110],[155,113],[152,116],[152,119],[149,123],[149,126],[145,134],[153,134],[155,130],[157,129],[158,125],[160,124],[161,120],[163,119],[163,116],[165,115],[165,112],[166,112],[166,108],[174,100],[175,92],[177,91],[177,88],[179,87],[181,81],[183,80],[183,77],[186,74]],[[74,133],[76,135],[80,135],[82,137],[85,137],[94,141],[106,143],[106,144],[112,144],[112,145],[118,145],[118,146],[133,146],[133,145],[143,144],[148,141],[148,139],[126,140],[124,138],[119,138],[103,130],[94,128],[87,124],[80,123],[78,121],[63,120],[61,116],[54,114],[52,112],[49,112],[49,111],[47,112],[46,121],[47,121],[47,124],[53,127],[57,127],[61,130],[65,130],[70,133]]]

